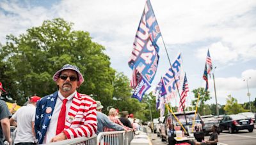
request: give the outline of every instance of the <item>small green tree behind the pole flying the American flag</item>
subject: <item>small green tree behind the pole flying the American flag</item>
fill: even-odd
[[[206,109],[207,109],[206,113],[208,113],[209,110],[211,111],[209,106],[205,106],[205,102],[207,100],[211,99],[211,97],[209,95],[210,92],[209,91],[205,92],[204,88],[196,88],[196,89],[192,90],[192,92],[194,93],[194,96],[195,96],[195,100],[192,100],[193,106],[196,106],[196,102],[197,102],[197,99],[198,99],[198,94],[200,95],[199,102],[198,102],[198,113],[199,114],[205,114]],[[211,112],[209,112],[209,113],[211,113]]]

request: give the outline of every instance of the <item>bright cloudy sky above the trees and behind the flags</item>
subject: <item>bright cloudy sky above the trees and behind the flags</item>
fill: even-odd
[[[152,87],[182,53],[189,90],[205,87],[202,79],[207,50],[211,53],[216,95],[225,104],[227,95],[239,103],[256,97],[256,1],[252,0],[151,0],[162,38],[159,65]],[[131,78],[128,60],[145,6],[145,0],[0,0],[0,43],[6,35],[19,36],[44,20],[63,18],[74,23],[74,31],[88,31],[93,41],[105,46],[111,67]],[[245,81],[243,81],[245,80]],[[248,88],[247,88],[248,83]],[[213,80],[209,91],[215,103]],[[188,93],[188,102],[194,99]]]

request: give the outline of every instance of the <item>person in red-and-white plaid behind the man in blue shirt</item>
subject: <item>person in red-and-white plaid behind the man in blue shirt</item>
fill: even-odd
[[[122,127],[126,128],[127,130],[131,130],[132,128],[125,127],[123,125],[123,123],[118,118],[116,118],[116,114],[117,113],[116,113],[116,109],[115,108],[109,109],[109,113],[108,113],[109,120],[112,121],[113,123],[121,125]],[[113,131],[116,131],[116,130],[112,129],[112,128],[104,127],[104,132],[113,132]]]

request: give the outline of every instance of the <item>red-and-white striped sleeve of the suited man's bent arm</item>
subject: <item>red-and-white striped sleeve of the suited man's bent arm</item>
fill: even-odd
[[[91,97],[85,97],[82,99],[84,104],[84,122],[77,128],[67,128],[63,130],[68,139],[76,137],[92,137],[97,131],[97,114],[96,114],[96,102]]]

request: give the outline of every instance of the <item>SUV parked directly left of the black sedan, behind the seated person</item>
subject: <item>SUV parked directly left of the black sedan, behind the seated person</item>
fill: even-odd
[[[212,125],[217,126],[217,133],[220,134],[220,123],[217,118],[215,118],[213,115],[205,115],[205,116],[201,116],[201,118],[204,121],[205,135],[212,132]]]

